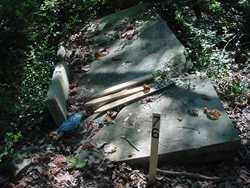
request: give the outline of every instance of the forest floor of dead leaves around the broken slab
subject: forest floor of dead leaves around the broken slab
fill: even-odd
[[[159,14],[164,18],[166,12],[159,11]],[[166,17],[165,17],[166,19]],[[189,38],[183,34],[184,31],[173,21],[166,19],[167,23],[177,35],[178,39],[190,48],[191,43]],[[76,33],[69,39],[70,45],[80,45],[84,49],[81,58],[92,56],[92,51],[88,46],[88,37],[83,30]],[[84,44],[84,45],[83,45]],[[225,42],[219,51],[225,50]],[[192,54],[192,53],[191,53]],[[236,49],[227,52],[227,55],[232,57],[238,54]],[[246,54],[240,54],[243,57]],[[238,61],[238,60],[237,60]],[[69,111],[77,112],[84,111],[82,109],[85,99],[76,99],[75,91],[77,90],[77,79],[81,76],[77,70],[88,71],[87,64],[70,64],[70,70],[74,75],[71,83],[71,94],[69,103]],[[147,169],[143,167],[129,166],[126,163],[114,163],[108,160],[102,160],[98,156],[90,154],[88,164],[78,161],[74,157],[75,151],[81,148],[86,148],[89,151],[97,149],[91,142],[75,144],[79,137],[88,137],[100,129],[99,125],[89,124],[82,125],[79,133],[65,135],[59,141],[51,139],[49,133],[42,132],[41,126],[27,126],[23,132],[25,140],[20,143],[19,157],[26,159],[25,168],[18,173],[14,179],[1,176],[0,181],[6,187],[176,187],[176,188],[238,188],[250,187],[250,93],[249,88],[243,95],[233,95],[225,97],[225,88],[229,83],[241,83],[239,80],[244,80],[244,83],[250,83],[250,64],[247,61],[236,62],[235,58],[227,63],[228,74],[224,77],[213,79],[214,87],[222,99],[223,106],[229,117],[239,130],[241,137],[241,148],[238,155],[233,161],[225,161],[213,164],[203,165],[177,165],[173,166],[166,164],[161,166],[161,169],[167,169],[178,172],[192,172],[203,174],[209,177],[220,177],[218,180],[207,180],[199,176],[189,177],[188,175],[159,175],[156,182],[151,184],[148,181]],[[193,70],[198,71],[198,70]],[[201,71],[201,70],[199,70]],[[243,82],[242,82],[243,83]],[[236,87],[236,86],[235,86]],[[237,85],[237,89],[241,86]],[[234,88],[231,88],[232,90]],[[243,88],[244,89],[244,88]],[[84,129],[84,130],[83,130]],[[22,153],[22,151],[24,151]],[[89,154],[89,153],[88,153]],[[67,156],[67,157],[66,157]],[[69,157],[70,156],[70,157]],[[70,165],[69,165],[70,164]],[[11,183],[10,183],[11,182]]]

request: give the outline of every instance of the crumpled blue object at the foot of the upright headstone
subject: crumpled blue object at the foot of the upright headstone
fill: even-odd
[[[82,114],[75,113],[64,121],[56,130],[58,133],[67,133],[77,129],[81,123]]]

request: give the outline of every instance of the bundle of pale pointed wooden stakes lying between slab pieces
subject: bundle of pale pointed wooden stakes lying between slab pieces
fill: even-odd
[[[135,100],[139,100],[148,95],[151,95],[169,85],[164,87],[154,87],[153,85],[145,85],[144,83],[150,82],[154,79],[153,75],[147,75],[141,78],[137,78],[100,92],[92,97],[92,100],[88,101],[85,105],[97,107],[94,113],[102,113],[111,110],[115,107],[131,103]],[[142,86],[138,86],[144,84]],[[133,86],[137,86],[131,88]]]

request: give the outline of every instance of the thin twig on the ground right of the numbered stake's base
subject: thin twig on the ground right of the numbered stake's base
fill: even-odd
[[[169,175],[169,176],[186,176],[188,178],[192,178],[192,179],[201,179],[201,180],[211,180],[211,181],[218,181],[221,180],[220,177],[217,176],[205,176],[202,174],[198,174],[198,173],[191,173],[191,172],[176,172],[176,171],[170,171],[170,170],[160,170],[157,169],[157,172],[163,174],[163,175]]]

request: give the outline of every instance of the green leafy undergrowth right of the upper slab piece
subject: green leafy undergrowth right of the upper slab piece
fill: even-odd
[[[162,16],[184,43],[193,70],[205,71],[209,78],[224,85],[223,98],[245,95],[249,84],[232,79],[232,65],[249,65],[250,36],[247,0],[175,1],[167,4]],[[174,20],[172,19],[174,17]]]

